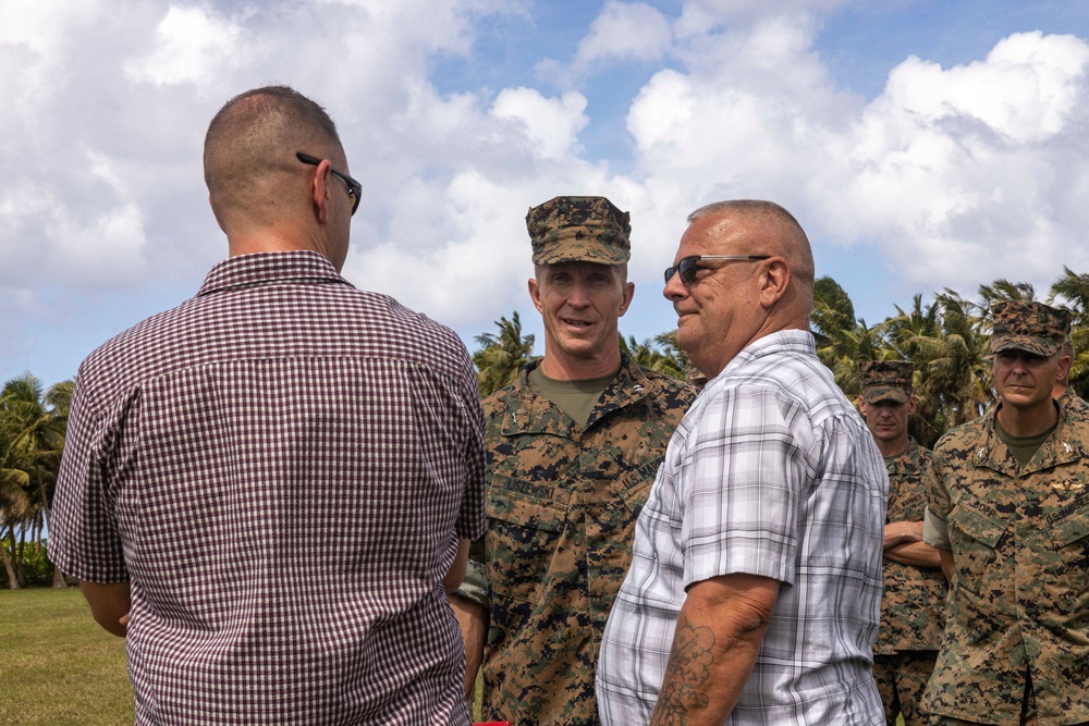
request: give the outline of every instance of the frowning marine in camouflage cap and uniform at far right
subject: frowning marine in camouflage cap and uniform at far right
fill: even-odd
[[[938,442],[923,541],[951,581],[937,724],[1089,723],[1089,422],[1052,398],[1069,313],[992,307],[999,405]]]

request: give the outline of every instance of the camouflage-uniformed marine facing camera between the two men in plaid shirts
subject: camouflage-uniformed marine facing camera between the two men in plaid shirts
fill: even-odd
[[[484,402],[488,522],[451,596],[486,719],[597,724],[594,675],[635,520],[695,390],[621,353],[631,224],[603,197],[529,210],[544,357]],[[487,647],[485,647],[487,632]]]

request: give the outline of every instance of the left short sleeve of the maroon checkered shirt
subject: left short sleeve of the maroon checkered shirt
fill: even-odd
[[[108,419],[95,416],[85,386],[77,382],[53,495],[47,551],[49,559],[62,571],[90,582],[129,580],[102,465],[101,452],[108,439]]]

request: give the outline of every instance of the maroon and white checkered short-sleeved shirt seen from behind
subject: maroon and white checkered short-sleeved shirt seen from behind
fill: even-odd
[[[131,581],[137,724],[467,724],[441,579],[482,430],[454,333],[315,253],[228,259],[91,354],[49,554]]]

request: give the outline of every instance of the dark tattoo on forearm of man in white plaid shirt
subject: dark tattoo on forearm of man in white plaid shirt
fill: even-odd
[[[682,614],[651,726],[682,726],[687,723],[689,711],[708,706],[709,699],[702,687],[711,675],[713,647],[714,632],[707,627],[694,627]]]

